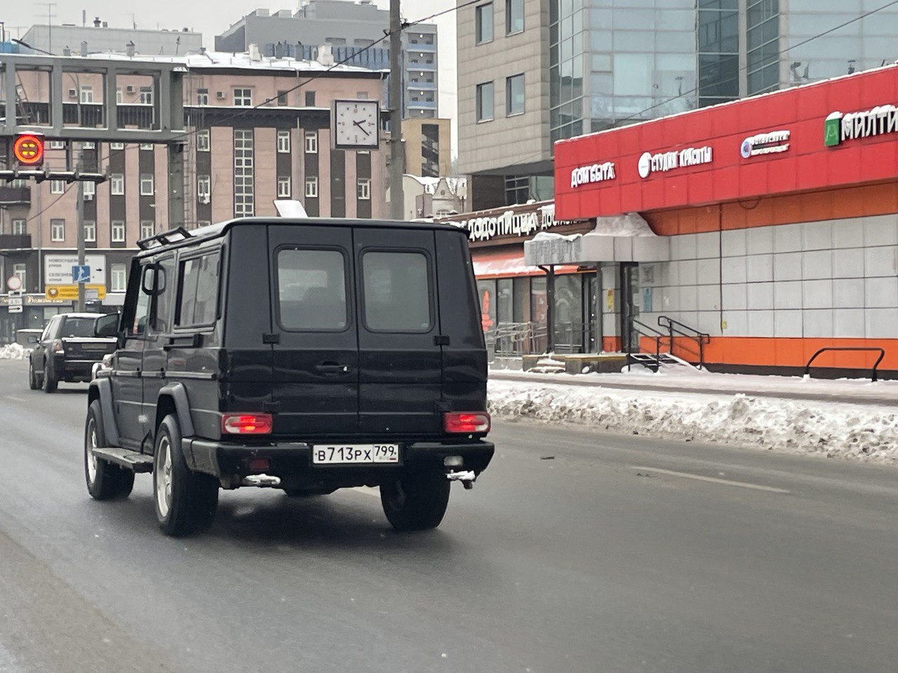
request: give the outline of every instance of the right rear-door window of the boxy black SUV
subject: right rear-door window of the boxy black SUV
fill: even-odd
[[[420,252],[366,252],[365,325],[383,332],[430,329],[430,274]]]

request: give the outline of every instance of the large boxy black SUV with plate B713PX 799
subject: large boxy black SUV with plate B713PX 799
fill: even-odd
[[[90,494],[152,472],[163,532],[219,488],[380,486],[396,529],[439,525],[493,455],[465,232],[248,218],[138,243],[119,349],[92,381]]]

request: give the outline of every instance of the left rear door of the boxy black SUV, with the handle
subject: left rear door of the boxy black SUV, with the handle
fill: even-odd
[[[358,432],[352,230],[269,225],[276,432]]]

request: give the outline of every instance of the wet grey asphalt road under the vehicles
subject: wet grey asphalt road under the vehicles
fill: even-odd
[[[198,538],[150,478],[89,499],[85,386],[0,362],[0,672],[884,673],[898,470],[497,423],[443,526],[374,492],[223,493]],[[454,486],[453,486],[454,489]]]

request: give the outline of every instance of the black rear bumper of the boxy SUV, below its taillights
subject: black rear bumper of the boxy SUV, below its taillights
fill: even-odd
[[[417,441],[401,443],[401,464],[313,465],[312,444],[277,442],[269,445],[247,445],[229,441],[186,438],[181,441],[184,458],[190,468],[217,476],[223,485],[239,485],[243,476],[253,474],[249,459],[267,458],[270,469],[266,474],[278,476],[289,488],[380,485],[405,470],[439,469],[471,470],[480,474],[489,465],[495,447],[489,441],[447,443]],[[462,456],[463,467],[445,468],[447,456]]]

